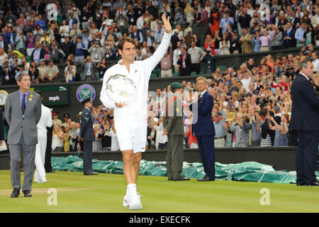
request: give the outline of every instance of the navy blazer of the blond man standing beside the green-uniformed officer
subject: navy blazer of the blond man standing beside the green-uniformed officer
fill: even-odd
[[[215,135],[215,127],[211,118],[213,104],[213,96],[206,91],[194,105],[189,106],[193,112],[192,130],[194,135]]]

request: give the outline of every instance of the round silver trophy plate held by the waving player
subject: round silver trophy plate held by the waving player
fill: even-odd
[[[137,92],[132,79],[124,75],[116,74],[106,81],[106,94],[116,103],[131,103],[135,100]]]

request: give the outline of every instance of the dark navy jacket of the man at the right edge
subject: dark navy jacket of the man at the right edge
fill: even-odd
[[[291,121],[289,128],[319,131],[319,97],[308,79],[298,73],[291,85]]]

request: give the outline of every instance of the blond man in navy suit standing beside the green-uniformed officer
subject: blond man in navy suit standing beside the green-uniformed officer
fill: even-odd
[[[205,177],[197,180],[206,182],[215,180],[215,128],[211,118],[213,96],[207,92],[206,77],[198,77],[196,82],[200,94],[198,97],[194,96],[194,99],[192,95],[190,96],[189,108],[193,112],[192,129],[197,138],[203,169],[206,173]]]

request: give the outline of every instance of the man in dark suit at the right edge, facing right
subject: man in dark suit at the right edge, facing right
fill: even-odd
[[[291,85],[290,129],[297,131],[296,156],[297,185],[319,186],[315,177],[319,135],[319,97],[310,82],[314,72],[313,63],[301,62],[300,72]]]

